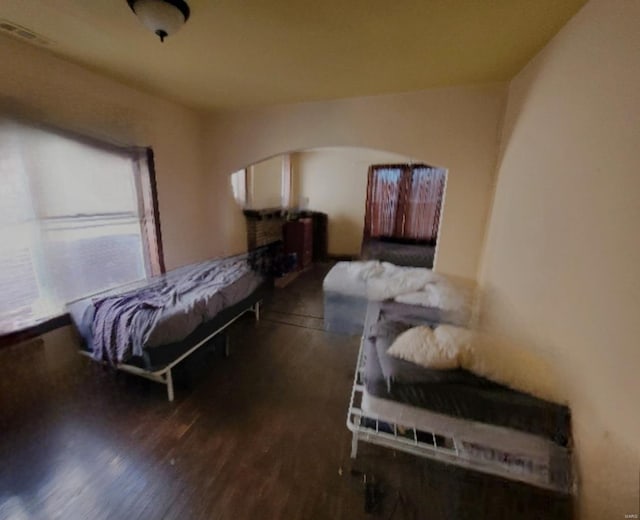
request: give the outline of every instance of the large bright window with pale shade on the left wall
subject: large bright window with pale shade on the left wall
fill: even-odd
[[[162,270],[152,156],[0,121],[0,334]]]

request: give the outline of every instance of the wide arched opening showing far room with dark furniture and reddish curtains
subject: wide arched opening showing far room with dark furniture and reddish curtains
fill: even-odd
[[[446,175],[408,156],[329,147],[249,165],[231,175],[231,186],[249,250],[281,241],[301,268],[327,257],[431,268]]]

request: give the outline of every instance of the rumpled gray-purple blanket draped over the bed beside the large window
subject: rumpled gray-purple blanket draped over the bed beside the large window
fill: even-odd
[[[143,289],[95,300],[93,357],[115,365],[141,356],[161,317],[178,322],[186,337],[225,307],[222,289],[249,271],[244,258],[213,260],[158,277]]]

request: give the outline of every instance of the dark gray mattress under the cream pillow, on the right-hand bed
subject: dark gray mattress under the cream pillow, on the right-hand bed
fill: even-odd
[[[397,309],[394,309],[397,311]],[[384,319],[384,314],[378,321]],[[395,327],[395,328],[394,328]],[[380,330],[379,335],[375,335]],[[365,387],[369,394],[433,412],[503,426],[567,446],[566,406],[518,392],[465,370],[430,370],[386,354],[403,326],[372,327],[365,338]]]

